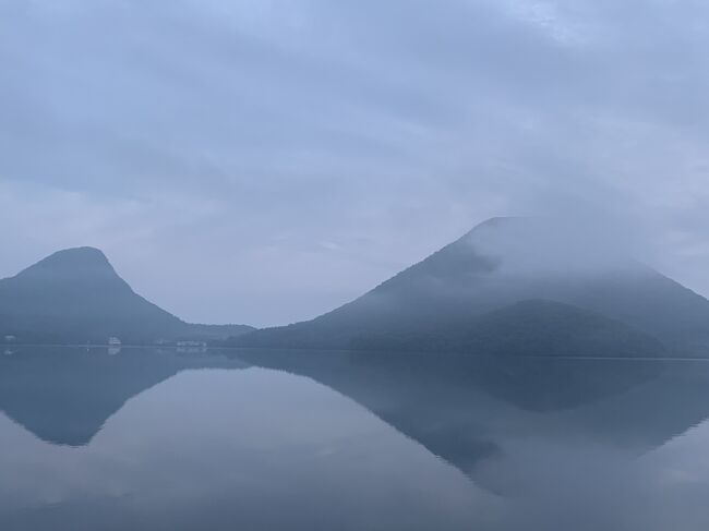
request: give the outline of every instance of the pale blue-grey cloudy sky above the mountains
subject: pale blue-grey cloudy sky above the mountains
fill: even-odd
[[[0,276],[283,324],[582,213],[709,294],[708,49],[704,0],[0,0]]]

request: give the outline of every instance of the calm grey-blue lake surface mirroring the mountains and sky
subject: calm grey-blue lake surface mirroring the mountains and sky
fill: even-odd
[[[709,529],[709,362],[17,348],[2,530]]]

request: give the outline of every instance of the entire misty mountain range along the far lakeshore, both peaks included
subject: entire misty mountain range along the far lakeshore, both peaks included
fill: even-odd
[[[494,218],[351,303],[263,330],[188,324],[135,293],[99,250],[60,251],[0,280],[0,335],[38,343],[231,337],[227,345],[238,347],[701,355],[709,301],[593,231]]]

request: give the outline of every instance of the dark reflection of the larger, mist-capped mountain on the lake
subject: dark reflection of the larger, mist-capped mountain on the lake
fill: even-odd
[[[479,483],[514,441],[641,455],[709,417],[704,362],[332,354],[240,355],[343,393]]]

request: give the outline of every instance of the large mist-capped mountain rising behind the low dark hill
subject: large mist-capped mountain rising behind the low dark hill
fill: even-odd
[[[709,301],[592,231],[530,218],[488,220],[337,310],[257,330],[231,345],[352,348],[362,337],[436,336],[534,299],[652,335],[673,355],[709,353]]]

